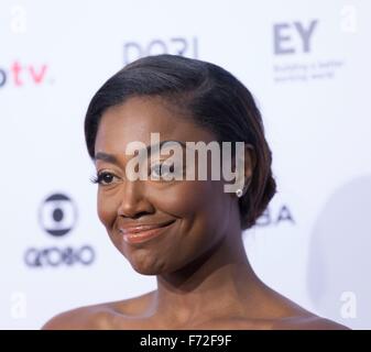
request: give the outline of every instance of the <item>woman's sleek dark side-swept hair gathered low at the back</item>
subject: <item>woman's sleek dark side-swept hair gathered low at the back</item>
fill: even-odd
[[[85,118],[91,158],[99,121],[106,109],[134,96],[160,96],[188,112],[196,124],[219,142],[243,141],[254,147],[250,187],[239,199],[241,227],[252,227],[275,194],[272,156],[260,111],[250,91],[223,68],[176,55],[140,58],[109,78],[92,97]]]

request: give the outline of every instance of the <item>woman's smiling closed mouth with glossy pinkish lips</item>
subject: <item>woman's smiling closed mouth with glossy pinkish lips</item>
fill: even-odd
[[[164,223],[157,224],[142,224],[132,228],[119,228],[119,232],[122,234],[123,240],[127,243],[143,243],[162,234],[168,227],[171,227],[175,220],[171,220]]]

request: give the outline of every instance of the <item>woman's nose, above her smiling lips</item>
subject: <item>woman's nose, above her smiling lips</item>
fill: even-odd
[[[153,205],[145,197],[145,186],[142,182],[126,180],[122,188],[118,216],[137,219],[155,211]]]

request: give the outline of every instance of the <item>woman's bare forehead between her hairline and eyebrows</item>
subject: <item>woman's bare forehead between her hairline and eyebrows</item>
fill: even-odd
[[[130,142],[138,141],[149,145],[151,133],[155,132],[160,133],[161,141],[216,140],[211,132],[196,125],[189,117],[161,98],[133,97],[103,113],[95,150],[96,153],[121,154]]]

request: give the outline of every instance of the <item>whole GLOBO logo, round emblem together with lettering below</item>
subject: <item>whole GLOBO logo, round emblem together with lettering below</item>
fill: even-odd
[[[72,234],[77,223],[77,207],[65,194],[53,194],[39,208],[39,223],[56,244],[32,246],[24,253],[24,263],[32,268],[91,265],[96,253],[89,244],[62,244]]]

